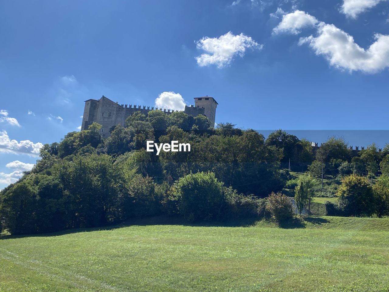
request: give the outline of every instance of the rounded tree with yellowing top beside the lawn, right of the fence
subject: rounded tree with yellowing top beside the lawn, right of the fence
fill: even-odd
[[[370,216],[374,213],[375,199],[373,188],[368,179],[351,174],[342,179],[338,188],[340,204],[347,215]]]

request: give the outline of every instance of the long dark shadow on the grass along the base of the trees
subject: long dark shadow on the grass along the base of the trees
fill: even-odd
[[[241,220],[229,220],[225,222],[194,222],[190,223],[187,220],[180,217],[169,217],[169,216],[155,216],[149,218],[137,218],[126,220],[121,223],[115,223],[112,225],[106,225],[102,227],[88,227],[88,228],[77,228],[67,229],[62,231],[50,232],[50,233],[36,233],[36,234],[18,234],[18,235],[0,235],[0,240],[14,239],[23,237],[49,237],[49,236],[61,236],[65,234],[79,233],[79,232],[90,232],[90,231],[103,231],[103,230],[114,230],[117,228],[129,227],[129,226],[151,226],[151,225],[183,225],[192,227],[251,227],[255,225],[260,219],[259,218],[245,218]]]

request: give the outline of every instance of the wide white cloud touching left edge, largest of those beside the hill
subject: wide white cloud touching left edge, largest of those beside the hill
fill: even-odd
[[[33,143],[30,140],[16,141],[9,139],[6,131],[0,132],[0,152],[27,154],[30,156],[39,156],[39,150],[43,144]]]

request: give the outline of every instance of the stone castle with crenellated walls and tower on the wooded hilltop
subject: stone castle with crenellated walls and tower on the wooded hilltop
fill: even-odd
[[[203,97],[195,97],[195,106],[185,106],[184,113],[190,116],[197,116],[199,114],[203,114],[211,121],[212,125],[215,124],[215,115],[216,115],[216,107],[218,103],[213,97],[203,96]],[[88,99],[85,100],[84,107],[84,115],[82,116],[82,125],[81,130],[88,130],[89,125],[92,125],[93,122],[99,123],[102,125],[100,129],[101,135],[103,137],[108,137],[110,135],[109,129],[112,126],[123,125],[124,121],[128,116],[135,113],[136,111],[140,111],[142,114],[147,115],[149,111],[157,110],[156,107],[147,108],[145,106],[136,106],[135,104],[132,106],[128,106],[127,104],[118,104],[117,102],[113,102],[110,99],[107,99],[104,95],[99,99]],[[160,108],[160,110],[162,110]],[[166,110],[163,109],[165,114],[171,114],[174,110]]]

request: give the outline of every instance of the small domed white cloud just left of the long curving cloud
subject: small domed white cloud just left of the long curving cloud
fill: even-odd
[[[273,28],[273,33],[289,32],[296,35],[301,32],[301,29],[314,27],[318,22],[314,16],[304,11],[296,10],[282,16],[282,21]]]

